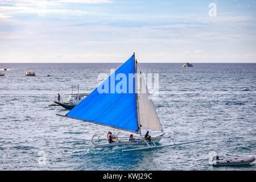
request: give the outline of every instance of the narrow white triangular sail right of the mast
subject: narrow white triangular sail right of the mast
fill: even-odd
[[[142,127],[146,127],[147,129],[163,131],[158,114],[148,93],[146,83],[141,74],[140,77],[139,122]]]

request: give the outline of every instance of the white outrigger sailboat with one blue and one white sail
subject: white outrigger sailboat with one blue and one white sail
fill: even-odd
[[[118,77],[119,79],[117,79]],[[125,80],[129,78],[129,81]],[[121,80],[121,81],[118,81]],[[92,142],[96,147],[126,146],[146,144],[146,147],[122,150],[146,150],[148,148],[162,148],[181,144],[196,143],[203,140],[187,141],[173,144],[157,144],[164,138],[163,127],[150,98],[146,83],[139,69],[135,53],[121,65],[109,78],[82,100],[77,106],[61,117],[78,119],[96,125],[108,126],[118,130],[135,133],[137,140],[129,137],[118,137],[109,143],[106,134],[96,134],[92,139],[76,140],[71,142]],[[160,131],[160,134],[151,136],[151,142],[142,137],[142,127]],[[150,144],[151,143],[151,144]]]

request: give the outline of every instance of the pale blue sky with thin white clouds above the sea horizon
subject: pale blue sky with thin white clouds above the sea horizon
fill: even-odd
[[[256,63],[255,10],[255,0],[1,0],[0,63],[123,62],[133,52],[140,62]]]

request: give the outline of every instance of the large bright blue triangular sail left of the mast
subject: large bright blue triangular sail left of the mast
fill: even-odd
[[[134,72],[133,55],[66,116],[138,133]]]

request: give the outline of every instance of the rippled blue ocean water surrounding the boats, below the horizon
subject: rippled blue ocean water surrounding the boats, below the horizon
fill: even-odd
[[[212,167],[209,154],[256,155],[256,64],[140,64],[143,73],[159,74],[159,96],[153,102],[166,133],[178,141],[200,143],[122,152],[122,147],[97,148],[90,139],[113,130],[57,117],[66,114],[49,106],[80,85],[80,93],[98,85],[100,73],[110,75],[120,64],[0,64],[1,170],[255,170]],[[26,77],[25,71],[35,71]],[[51,75],[51,77],[47,77]],[[74,91],[75,92],[75,91]],[[161,144],[170,144],[164,138]],[[129,148],[129,147],[125,147]]]

